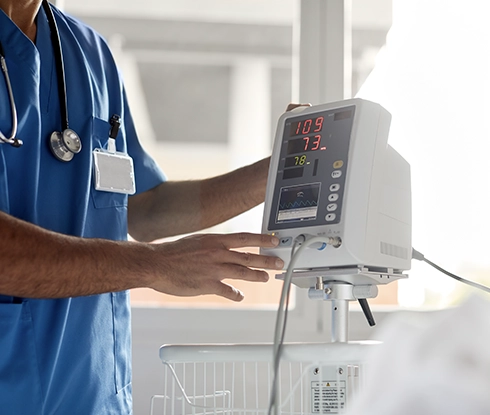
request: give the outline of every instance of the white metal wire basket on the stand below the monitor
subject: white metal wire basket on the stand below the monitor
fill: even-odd
[[[279,368],[282,415],[340,414],[362,383],[375,342],[285,344]],[[272,345],[164,345],[164,392],[151,414],[263,415],[272,387]]]

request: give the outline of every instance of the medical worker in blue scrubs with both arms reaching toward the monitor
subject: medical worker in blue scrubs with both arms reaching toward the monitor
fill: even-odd
[[[41,0],[0,9],[0,413],[130,414],[128,289],[239,301],[224,278],[264,282],[258,269],[283,265],[233,250],[277,244],[267,235],[147,242],[262,202],[268,160],[167,181],[100,36]]]

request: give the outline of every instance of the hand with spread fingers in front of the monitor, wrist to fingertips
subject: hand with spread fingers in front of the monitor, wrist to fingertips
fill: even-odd
[[[243,293],[223,279],[266,282],[268,274],[257,268],[281,270],[284,263],[276,257],[234,249],[273,247],[278,243],[278,239],[270,235],[235,233],[197,234],[153,245],[160,271],[148,286],[177,296],[216,294],[241,301]]]

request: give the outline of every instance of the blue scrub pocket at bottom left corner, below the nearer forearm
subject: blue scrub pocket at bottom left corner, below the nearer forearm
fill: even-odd
[[[0,303],[0,408],[35,415],[42,402],[29,304]]]

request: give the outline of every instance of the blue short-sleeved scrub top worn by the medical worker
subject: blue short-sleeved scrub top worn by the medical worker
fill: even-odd
[[[56,232],[125,240],[127,196],[96,191],[92,150],[107,146],[109,119],[122,117],[118,151],[134,159],[136,189],[165,176],[142,149],[122,81],[105,42],[54,10],[66,69],[70,128],[82,151],[54,158],[48,137],[61,130],[56,65],[40,10],[36,44],[0,11],[3,44],[19,118],[21,148],[0,145],[0,210]],[[0,81],[0,130],[11,112]],[[76,255],[73,252],[73,255]],[[8,255],[3,246],[0,255]],[[26,252],[26,260],[29,260]],[[2,271],[0,270],[0,278]],[[0,293],[1,294],[1,293]],[[8,414],[131,413],[130,308],[127,292],[35,300],[0,295],[0,408]]]

